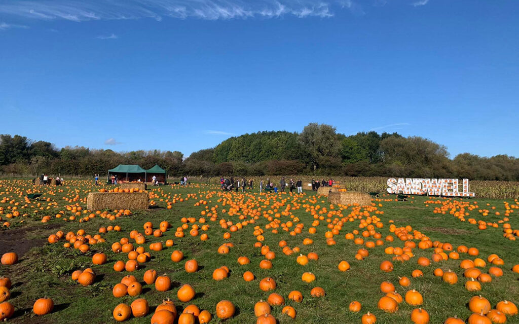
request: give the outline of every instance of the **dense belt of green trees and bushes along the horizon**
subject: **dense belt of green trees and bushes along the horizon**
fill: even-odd
[[[450,158],[445,146],[424,138],[373,131],[345,136],[330,125],[314,123],[300,133],[263,131],[231,137],[189,157],[178,151],[58,149],[19,135],[0,136],[0,171],[5,174],[92,176],[119,164],[146,169],[158,164],[170,176],[318,174],[519,181],[515,157],[463,153]]]

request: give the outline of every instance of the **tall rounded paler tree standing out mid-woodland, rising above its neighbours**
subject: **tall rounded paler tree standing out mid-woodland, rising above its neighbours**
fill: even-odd
[[[340,149],[335,127],[326,124],[310,123],[299,134],[299,143],[311,159],[313,172],[323,156],[337,157]]]

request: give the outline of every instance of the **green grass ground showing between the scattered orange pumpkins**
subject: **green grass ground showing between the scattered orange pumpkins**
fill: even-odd
[[[85,189],[86,187],[81,187],[81,192]],[[216,201],[220,191],[214,186],[209,187],[206,185],[194,188],[165,186],[161,190],[168,195],[182,194],[183,197],[186,197],[188,193],[196,193],[197,199],[190,198],[188,201],[178,202],[169,210],[158,208],[135,212],[130,217],[122,217],[115,221],[108,221],[99,217],[81,224],[77,221],[65,223],[60,219],[52,219],[45,224],[37,220],[27,220],[23,225],[17,224],[5,232],[0,232],[0,236],[2,236],[8,231],[25,228],[28,231],[23,232],[22,235],[24,237],[20,237],[20,239],[41,240],[50,234],[56,233],[58,230],[66,233],[69,231],[76,232],[83,228],[87,234],[94,235],[98,233],[101,226],[120,225],[122,227],[120,233],[108,232],[103,235],[107,242],[93,246],[93,251],[87,254],[80,253],[74,249],[63,248],[63,240],[54,245],[46,244],[46,242],[42,241],[37,247],[21,257],[21,261],[18,264],[0,266],[0,275],[9,276],[15,285],[11,289],[13,296],[10,302],[17,309],[17,313],[16,317],[11,319],[10,322],[48,322],[56,324],[115,322],[112,318],[113,308],[119,303],[130,304],[137,297],[126,296],[120,299],[113,297],[113,286],[128,273],[116,273],[113,271],[115,261],[126,261],[127,258],[124,254],[113,253],[110,247],[113,242],[118,241],[120,238],[129,237],[131,230],[136,229],[143,233],[142,226],[144,222],[151,221],[154,227],[157,228],[158,224],[164,220],[169,221],[173,228],[161,238],[146,237],[147,242],[144,247],[148,250],[149,243],[166,241],[167,239],[173,239],[175,245],[165,248],[161,252],[152,251],[152,260],[144,264],[142,269],[132,273],[143,284],[143,274],[146,269],[151,268],[156,269],[159,274],[168,274],[172,279],[173,288],[167,292],[157,292],[153,285],[143,285],[144,292],[139,297],[148,300],[151,310],[162,299],[169,297],[175,302],[179,310],[190,303],[196,304],[200,309],[208,309],[213,314],[211,322],[217,323],[220,321],[214,318],[215,305],[218,301],[226,299],[233,302],[238,308],[235,317],[225,321],[226,323],[254,323],[256,320],[253,313],[254,303],[261,299],[266,300],[269,295],[269,293],[259,289],[259,281],[269,276],[277,282],[275,292],[283,295],[285,300],[288,293],[292,290],[299,290],[304,295],[302,303],[286,301],[286,304],[292,305],[296,309],[297,316],[295,319],[282,315],[282,307],[273,308],[272,315],[279,320],[279,323],[360,323],[362,314],[365,314],[367,311],[374,313],[379,323],[412,323],[409,315],[415,307],[407,305],[405,302],[399,305],[399,310],[395,314],[385,314],[377,309],[377,301],[383,296],[383,293],[379,291],[379,285],[382,281],[391,281],[397,287],[397,291],[404,295],[407,289],[398,285],[398,277],[407,276],[411,278],[413,269],[420,268],[424,272],[425,277],[412,278],[411,289],[414,288],[420,291],[424,296],[422,308],[429,312],[431,323],[443,323],[447,317],[454,315],[467,319],[471,314],[466,304],[474,293],[468,292],[463,287],[466,279],[462,277],[462,271],[459,268],[459,261],[469,258],[466,254],[461,254],[460,260],[448,260],[438,264],[433,263],[431,266],[424,268],[416,264],[416,259],[421,256],[430,258],[432,250],[423,251],[416,248],[413,251],[416,254],[414,258],[404,263],[394,263],[395,269],[392,273],[383,273],[379,270],[379,264],[384,260],[389,260],[391,257],[384,253],[384,248],[389,245],[403,247],[402,241],[395,239],[392,244],[386,242],[384,246],[370,249],[369,257],[363,261],[357,261],[354,255],[360,246],[353,244],[350,240],[346,240],[344,235],[358,229],[358,220],[345,223],[340,234],[335,237],[337,244],[329,247],[326,245],[324,237],[324,233],[327,231],[326,223],[321,221],[321,224],[317,227],[317,233],[309,234],[308,228],[311,227],[313,217],[305,211],[305,208],[301,208],[292,210],[292,212],[305,225],[302,234],[290,236],[288,232],[282,231],[281,228],[279,229],[279,234],[272,234],[268,230],[265,231],[264,244],[267,244],[271,250],[276,252],[276,259],[272,261],[274,264],[272,269],[264,270],[258,266],[263,257],[260,249],[253,247],[256,239],[252,232],[254,225],[265,228],[265,225],[268,223],[266,219],[260,217],[256,224],[245,226],[243,230],[232,233],[232,237],[229,240],[224,240],[223,234],[226,231],[217,222],[210,222],[207,218],[208,224],[211,226],[209,231],[206,232],[209,235],[208,241],[203,242],[199,237],[189,236],[188,230],[185,231],[186,236],[184,238],[176,238],[174,229],[177,226],[181,226],[182,217],[196,217],[197,219],[200,217],[200,211],[204,207],[193,206],[199,199],[207,200],[207,206],[209,207],[217,204],[220,206],[218,210],[223,208],[222,204]],[[203,198],[200,197],[200,193],[207,191],[215,191],[216,194],[211,198],[204,198],[205,194],[203,194]],[[233,195],[236,195],[236,193]],[[305,196],[299,200],[305,200],[311,195],[313,195],[312,192],[305,192]],[[56,197],[59,204],[65,204],[64,200],[60,200],[61,195]],[[254,194],[254,197],[244,197],[244,199],[257,199],[258,197],[257,194]],[[261,196],[262,199],[264,197]],[[291,198],[289,195],[282,195],[282,198],[289,198],[287,204],[290,203]],[[160,202],[158,199],[155,200],[159,207],[166,206],[166,203]],[[318,198],[318,202],[315,205],[328,208],[329,204],[326,202],[321,203],[321,200],[325,201],[326,198]],[[421,231],[432,240],[450,242],[455,247],[458,245],[476,247],[480,250],[480,257],[485,260],[490,253],[497,253],[505,262],[505,265],[502,266],[504,275],[500,278],[494,278],[491,283],[482,284],[481,294],[493,306],[501,300],[510,300],[519,305],[519,284],[517,281],[519,275],[510,271],[512,265],[519,263],[518,242],[504,238],[502,236],[502,227],[489,227],[485,231],[479,231],[476,225],[460,222],[452,215],[434,214],[432,210],[435,205],[426,207],[424,204],[425,200],[425,197],[415,197],[412,201],[406,202],[380,202],[383,207],[379,207],[379,210],[384,211],[384,214],[378,215],[378,217],[384,223],[384,228],[377,231],[383,237],[392,235],[393,233],[389,232],[389,220],[394,220],[395,225],[411,225],[414,230]],[[500,211],[501,215],[503,214],[503,200],[475,200],[480,208],[489,209],[488,207],[495,206],[495,211]],[[491,206],[487,207],[487,203]],[[512,204],[513,201],[509,200],[509,203]],[[224,208],[228,209],[228,206]],[[219,217],[237,222],[236,215],[229,217],[227,214],[220,212]],[[498,217],[493,214],[483,217],[477,213],[477,209],[471,211],[467,218],[471,217],[476,220],[485,219],[486,221],[497,221],[502,218],[502,216]],[[289,218],[283,216],[281,220],[284,222],[289,220]],[[519,228],[517,210],[511,214],[509,223],[512,228]],[[313,245],[304,246],[302,244],[303,239],[306,237],[313,239]],[[286,256],[281,252],[281,248],[278,246],[278,242],[281,239],[286,240],[291,248],[298,246],[304,254],[311,251],[317,252],[319,260],[310,261],[306,266],[298,265],[295,261],[296,254]],[[218,254],[216,249],[226,241],[233,242],[235,247],[230,249],[229,254]],[[184,253],[184,260],[179,263],[174,263],[170,259],[171,252],[176,249]],[[91,255],[97,251],[103,251],[107,254],[108,262],[106,264],[92,266]],[[5,252],[1,246],[0,252]],[[238,265],[237,259],[241,255],[249,257],[251,263],[243,266]],[[184,263],[190,259],[196,259],[201,267],[198,272],[193,274],[188,274],[184,271]],[[337,264],[342,260],[346,260],[351,264],[351,269],[348,272],[338,271]],[[222,281],[213,280],[213,270],[222,265],[230,268],[229,278]],[[70,275],[75,269],[90,266],[93,267],[99,279],[101,279],[94,285],[82,287],[70,279]],[[442,282],[441,278],[434,277],[432,272],[436,267],[455,271],[459,277],[457,285],[447,285]],[[485,271],[488,267],[489,265],[485,267]],[[245,282],[242,278],[242,274],[245,271],[252,271],[256,279],[252,282]],[[308,271],[316,274],[317,279],[315,282],[305,283],[301,280],[301,275]],[[197,292],[196,298],[192,302],[181,303],[176,298],[177,287],[184,283],[192,285]],[[326,291],[324,298],[316,299],[310,296],[311,288],[316,286],[324,288]],[[52,314],[43,317],[32,316],[32,304],[36,299],[42,298],[45,295],[53,299],[54,304],[57,305],[56,310]],[[362,304],[362,310],[358,314],[348,311],[348,304],[353,300],[357,300]],[[144,318],[132,318],[127,322],[149,323],[151,315],[152,312]],[[509,317],[508,322],[519,323],[519,318],[517,316]]]

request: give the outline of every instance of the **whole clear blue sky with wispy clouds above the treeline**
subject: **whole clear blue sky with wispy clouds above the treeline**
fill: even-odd
[[[517,1],[0,0],[0,133],[178,150],[398,131],[519,156]]]

